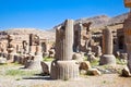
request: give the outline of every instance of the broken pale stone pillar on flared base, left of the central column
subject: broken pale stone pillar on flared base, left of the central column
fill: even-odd
[[[41,57],[41,46],[39,42],[39,37],[37,35],[29,35],[29,57],[26,60],[25,67],[27,69],[40,69]]]

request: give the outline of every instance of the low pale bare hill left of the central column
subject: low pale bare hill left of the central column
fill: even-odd
[[[4,33],[4,34],[9,34],[9,35],[19,35],[22,37],[29,35],[29,34],[35,34],[35,35],[38,35],[43,39],[55,40],[55,33],[35,29],[35,28],[12,28],[12,29],[8,29],[8,30],[2,30],[0,33],[1,34]],[[27,37],[25,37],[25,38],[27,38]]]

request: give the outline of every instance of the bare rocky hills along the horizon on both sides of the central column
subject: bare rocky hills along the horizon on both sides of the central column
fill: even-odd
[[[84,17],[80,20],[75,20],[75,24],[79,22],[92,22],[91,28],[93,30],[103,29],[104,26],[111,26],[112,29],[122,28],[122,24],[116,25],[117,23],[122,23],[124,18],[128,16],[128,13],[117,15],[115,17],[109,17],[107,15],[98,15],[93,17]],[[62,24],[62,23],[61,23]],[[59,24],[59,25],[61,25]],[[11,35],[28,35],[28,34],[37,34],[40,38],[55,40],[55,28],[49,30],[40,30],[36,28],[12,28],[8,30],[2,30],[0,33],[11,34]]]

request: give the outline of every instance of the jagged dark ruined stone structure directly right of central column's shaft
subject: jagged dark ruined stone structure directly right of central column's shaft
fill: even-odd
[[[86,52],[88,47],[94,46],[91,32],[92,22],[74,24],[74,52]]]

